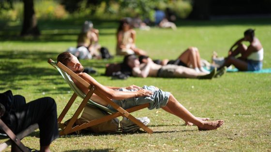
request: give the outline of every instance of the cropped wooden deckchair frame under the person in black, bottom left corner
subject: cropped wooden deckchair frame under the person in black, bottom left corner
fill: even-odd
[[[5,108],[0,103],[0,113],[4,113]],[[19,134],[15,135],[14,132],[0,119],[0,128],[6,133],[6,138],[9,138],[7,141],[0,144],[0,152],[6,149],[12,143],[22,151],[29,152],[29,149],[21,142],[21,139],[28,136],[31,132],[35,131],[39,127],[38,124],[32,124],[25,130],[21,131]]]

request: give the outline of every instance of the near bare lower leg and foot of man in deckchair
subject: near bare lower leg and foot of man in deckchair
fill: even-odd
[[[190,113],[185,107],[183,107],[181,103],[179,103],[176,100],[176,98],[173,97],[173,95],[169,96],[166,107],[164,107],[163,109],[165,110],[169,109],[172,113],[174,113],[174,115],[180,117],[183,120],[186,120],[187,122],[195,124],[199,130],[213,130],[217,129],[218,127],[224,124],[223,120],[207,122],[198,119],[192,113]]]

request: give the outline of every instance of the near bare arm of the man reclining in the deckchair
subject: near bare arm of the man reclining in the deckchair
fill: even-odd
[[[104,95],[105,97],[109,97],[110,99],[121,100],[131,97],[144,97],[152,95],[152,92],[146,89],[139,89],[134,92],[116,91],[98,83],[94,78],[92,78],[87,73],[81,73],[79,74],[79,76],[86,80],[91,85],[95,86],[102,95]],[[84,88],[84,86],[81,83],[77,83],[77,85],[79,88]]]

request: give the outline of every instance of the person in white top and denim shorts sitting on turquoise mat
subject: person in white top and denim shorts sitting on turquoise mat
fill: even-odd
[[[255,37],[254,31],[255,30],[251,28],[247,29],[244,32],[244,38],[241,38],[232,45],[229,49],[228,56],[225,58],[224,64],[220,68],[234,65],[235,68],[241,71],[262,69],[263,47],[261,42]],[[249,41],[250,45],[247,47],[245,44],[242,44],[243,41]],[[233,50],[235,46],[237,46],[237,48]],[[241,54],[241,56],[236,58],[239,54]]]

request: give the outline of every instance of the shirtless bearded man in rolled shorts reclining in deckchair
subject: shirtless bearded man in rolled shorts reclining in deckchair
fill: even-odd
[[[209,120],[209,118],[195,117],[186,108],[184,108],[173,95],[154,86],[144,86],[143,88],[135,85],[131,85],[126,88],[104,86],[101,83],[98,83],[87,73],[84,73],[84,68],[78,59],[68,52],[58,55],[57,61],[61,62],[85,81],[95,86],[105,97],[112,99],[113,102],[120,105],[123,109],[128,109],[144,103],[150,103],[150,107],[148,107],[149,110],[162,108],[163,110],[180,117],[186,122],[186,124],[195,124],[199,130],[213,130],[224,124],[223,120],[206,121]],[[83,93],[87,94],[89,91],[88,88],[83,86],[81,83],[78,83],[75,79],[73,79],[73,81]],[[90,99],[114,110],[107,102],[95,94],[93,94]]]

